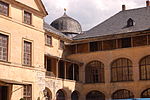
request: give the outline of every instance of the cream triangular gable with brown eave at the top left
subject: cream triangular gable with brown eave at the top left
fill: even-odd
[[[26,5],[36,11],[39,11],[43,13],[44,15],[47,15],[47,11],[41,0],[15,0],[15,1],[23,5]]]

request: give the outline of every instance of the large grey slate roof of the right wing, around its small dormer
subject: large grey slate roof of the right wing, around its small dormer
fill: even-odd
[[[128,19],[135,22],[134,26],[126,27]],[[99,36],[137,32],[150,29],[150,7],[120,11],[92,29],[74,37],[74,40],[95,38]]]

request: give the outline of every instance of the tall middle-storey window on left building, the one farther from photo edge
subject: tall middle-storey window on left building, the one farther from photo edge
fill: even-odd
[[[24,65],[31,66],[32,61],[32,44],[24,41]]]

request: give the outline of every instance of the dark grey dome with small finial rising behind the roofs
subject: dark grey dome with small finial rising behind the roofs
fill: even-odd
[[[61,31],[68,37],[74,37],[82,32],[80,23],[69,17],[64,9],[64,15],[51,23],[51,26]]]

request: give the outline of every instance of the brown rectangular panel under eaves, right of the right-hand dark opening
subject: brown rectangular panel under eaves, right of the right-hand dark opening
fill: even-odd
[[[147,35],[133,37],[133,46],[147,45]]]

